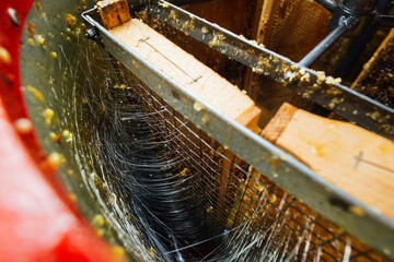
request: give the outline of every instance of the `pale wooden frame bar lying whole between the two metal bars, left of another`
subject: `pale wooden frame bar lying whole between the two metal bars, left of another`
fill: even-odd
[[[147,24],[132,19],[109,32],[220,112],[244,126],[257,124],[260,110],[247,95]]]

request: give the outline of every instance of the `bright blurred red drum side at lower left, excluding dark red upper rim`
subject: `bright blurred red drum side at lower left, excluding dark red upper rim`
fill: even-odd
[[[0,261],[113,261],[60,200],[0,105]]]

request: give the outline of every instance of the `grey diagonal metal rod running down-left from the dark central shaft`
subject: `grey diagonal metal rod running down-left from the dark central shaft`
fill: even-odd
[[[310,51],[299,63],[310,68],[334,43],[350,28],[349,24],[343,22],[329,35],[326,36],[312,51]]]

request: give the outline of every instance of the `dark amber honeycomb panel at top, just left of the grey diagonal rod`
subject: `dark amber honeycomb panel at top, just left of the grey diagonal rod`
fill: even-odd
[[[331,17],[331,12],[312,0],[266,1],[257,40],[299,61],[329,34]]]

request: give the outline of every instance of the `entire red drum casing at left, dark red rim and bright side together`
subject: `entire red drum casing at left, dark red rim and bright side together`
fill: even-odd
[[[109,245],[95,236],[44,170],[45,155],[34,132],[19,134],[26,117],[20,80],[20,39],[32,0],[0,0],[0,261],[115,261]],[[20,16],[12,23],[8,9]]]

